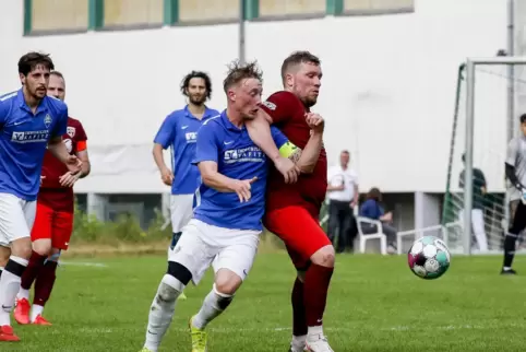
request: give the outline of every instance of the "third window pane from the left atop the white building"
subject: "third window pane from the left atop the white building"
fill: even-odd
[[[179,21],[237,20],[240,11],[239,2],[239,0],[179,0]]]

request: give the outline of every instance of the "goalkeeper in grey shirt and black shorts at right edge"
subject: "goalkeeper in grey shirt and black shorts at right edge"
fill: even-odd
[[[510,227],[504,238],[504,266],[502,274],[515,274],[512,269],[515,243],[526,228],[526,114],[521,116],[521,137],[507,145],[506,178],[512,184],[510,196]]]

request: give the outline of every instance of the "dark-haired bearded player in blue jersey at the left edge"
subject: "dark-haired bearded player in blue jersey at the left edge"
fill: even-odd
[[[0,277],[0,341],[20,340],[10,313],[32,255],[31,228],[46,146],[72,174],[82,164],[62,143],[68,107],[47,96],[52,69],[48,55],[24,55],[19,61],[22,89],[0,96],[0,244],[11,247]]]

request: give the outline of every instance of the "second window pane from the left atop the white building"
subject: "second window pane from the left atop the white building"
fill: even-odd
[[[105,0],[104,26],[163,24],[163,0]]]

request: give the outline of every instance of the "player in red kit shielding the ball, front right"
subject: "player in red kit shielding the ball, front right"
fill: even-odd
[[[262,114],[248,126],[252,140],[270,157],[278,154],[268,125],[278,127],[298,148],[304,148],[311,129],[323,128],[323,119],[310,108],[316,103],[321,86],[320,59],[308,51],[297,51],[282,66],[284,91],[262,104]],[[307,117],[318,117],[321,125],[309,126]],[[320,137],[321,138],[321,137]],[[327,161],[321,146],[315,164],[301,169],[294,185],[272,169],[268,176],[264,225],[282,238],[298,271],[292,289],[291,352],[333,351],[323,333],[322,321],[327,290],[334,270],[334,248],[319,223],[327,188]]]

